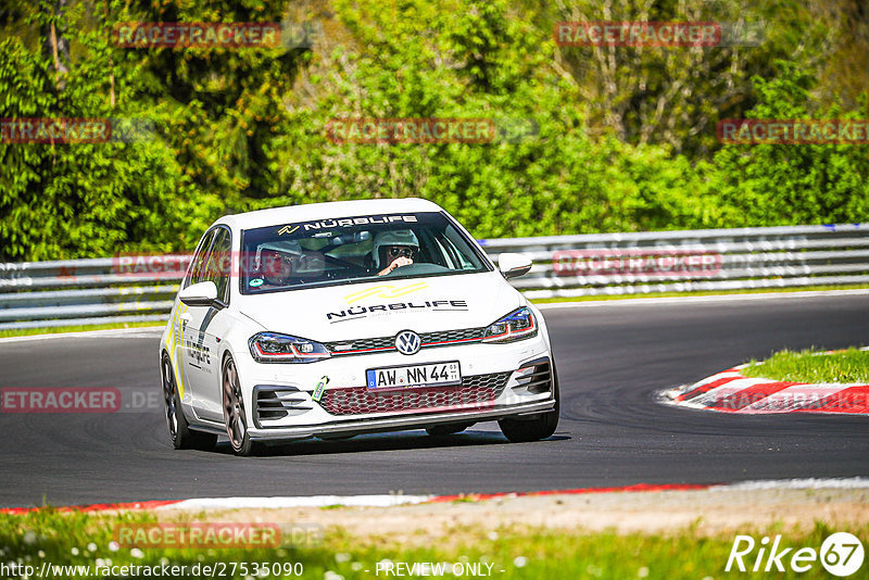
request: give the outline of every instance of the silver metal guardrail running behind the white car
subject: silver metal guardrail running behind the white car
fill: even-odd
[[[869,285],[869,224],[481,240],[534,261],[528,298]],[[149,260],[151,261],[149,263]],[[0,329],[163,321],[189,256],[0,264]],[[156,268],[154,266],[156,264]]]

